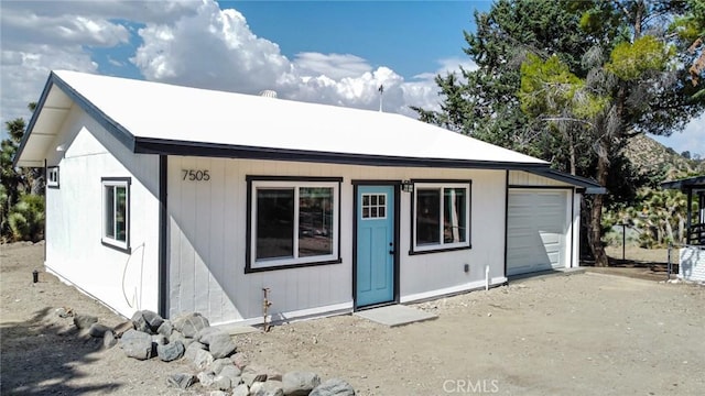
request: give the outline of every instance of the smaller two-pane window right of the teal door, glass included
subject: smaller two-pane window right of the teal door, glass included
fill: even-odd
[[[414,183],[412,253],[470,248],[470,184]]]

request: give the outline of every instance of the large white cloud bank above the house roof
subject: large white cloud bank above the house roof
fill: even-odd
[[[203,1],[6,2],[2,11],[2,118],[29,117],[51,69],[96,73],[90,46],[137,43],[128,59],[148,80],[258,94],[415,117],[409,106],[438,109],[436,74],[471,67],[466,59],[438,62],[437,70],[404,80],[389,67],[372,67],[354,54],[284,56],[258,37],[245,15]],[[236,6],[237,7],[237,6]]]

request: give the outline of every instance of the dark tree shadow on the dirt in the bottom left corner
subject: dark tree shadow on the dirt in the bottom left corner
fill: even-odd
[[[72,317],[61,318],[53,308],[41,309],[26,321],[1,323],[0,345],[2,395],[101,394],[119,387],[75,384],[88,376],[82,367],[99,359],[93,354],[101,350],[102,339],[79,333]]]

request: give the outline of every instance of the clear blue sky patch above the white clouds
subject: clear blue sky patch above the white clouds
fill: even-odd
[[[389,66],[404,78],[437,68],[437,59],[462,58],[463,30],[474,29],[475,9],[489,1],[219,1],[242,12],[252,31],[293,56],[302,52],[348,53]],[[302,29],[303,28],[303,29]]]

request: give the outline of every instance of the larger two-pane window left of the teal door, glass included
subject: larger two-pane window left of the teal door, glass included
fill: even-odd
[[[339,262],[340,182],[248,177],[246,271]]]

